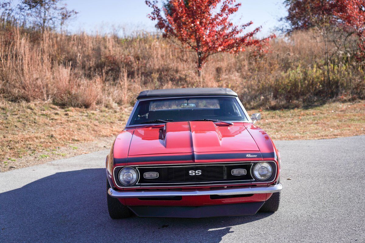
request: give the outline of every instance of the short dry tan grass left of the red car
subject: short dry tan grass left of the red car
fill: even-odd
[[[0,161],[9,165],[23,156],[50,155],[59,153],[62,146],[115,136],[123,130],[130,111],[131,107],[61,109],[48,102],[1,101]]]

